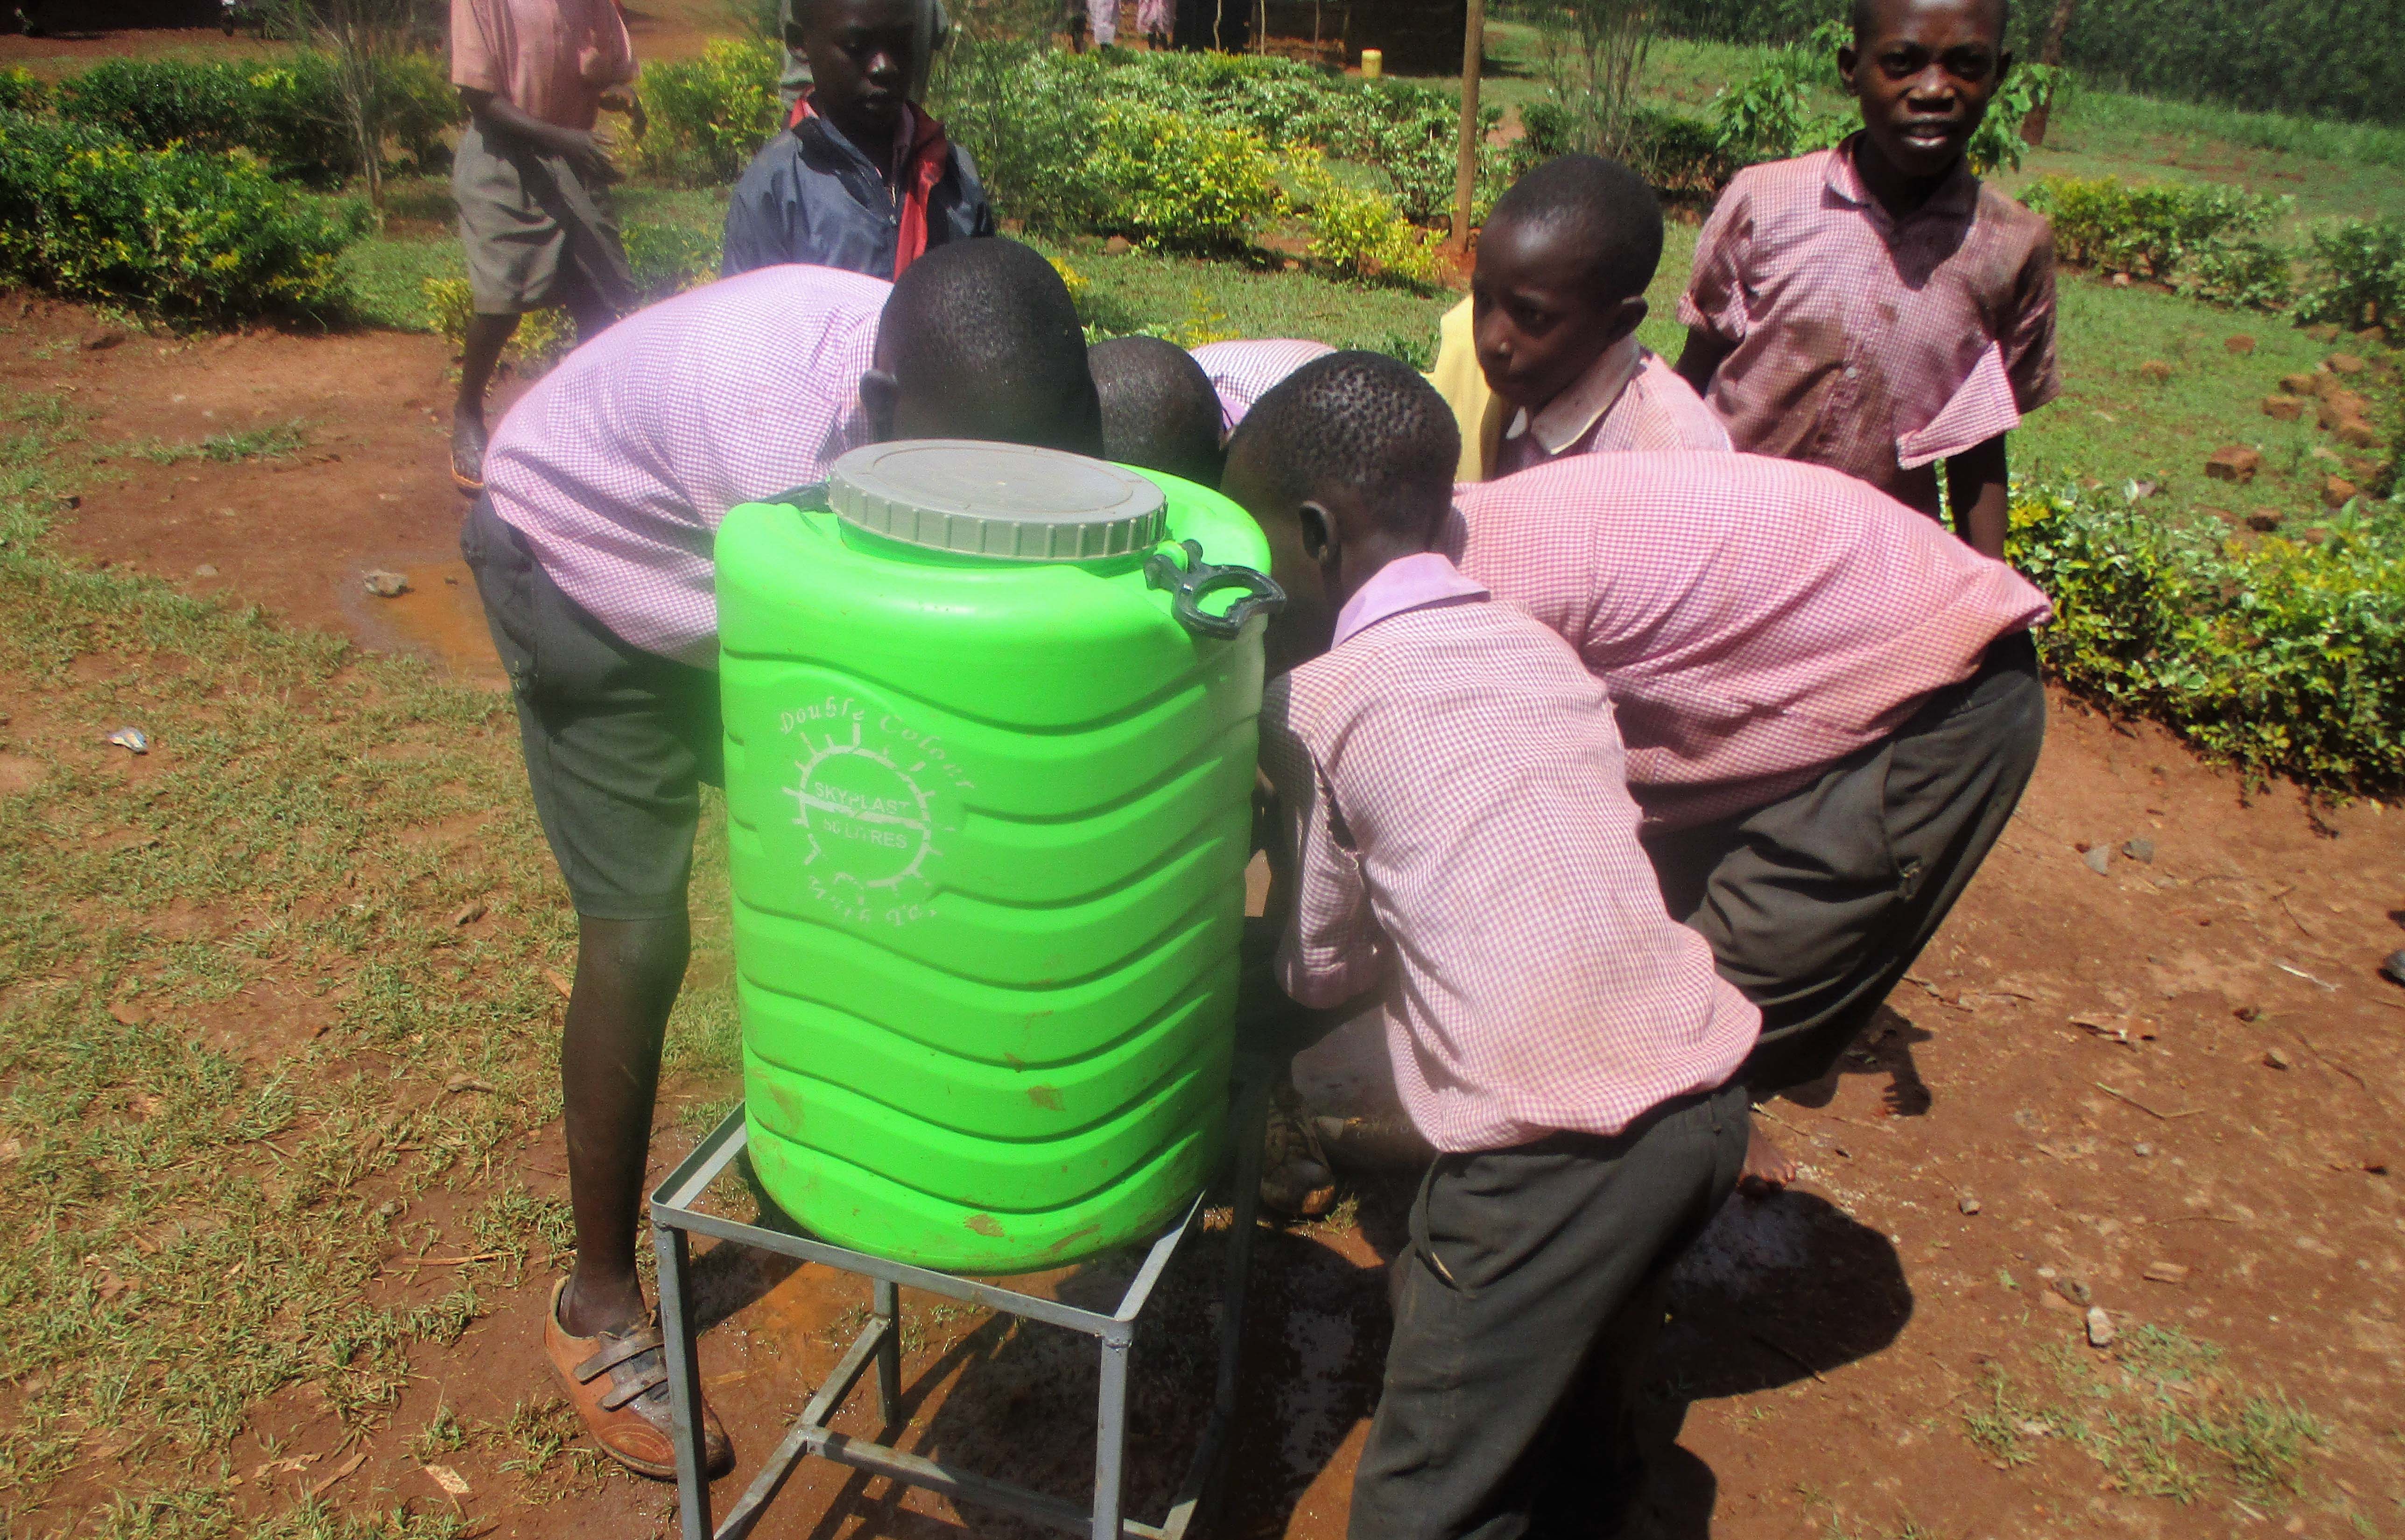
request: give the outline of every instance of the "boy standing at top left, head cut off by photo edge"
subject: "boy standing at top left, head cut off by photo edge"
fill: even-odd
[[[587,339],[635,303],[608,195],[618,171],[594,132],[630,79],[618,0],[452,0],[452,84],[469,113],[452,197],[474,306],[452,404],[459,491],[483,491],[483,392],[517,318],[565,303]]]

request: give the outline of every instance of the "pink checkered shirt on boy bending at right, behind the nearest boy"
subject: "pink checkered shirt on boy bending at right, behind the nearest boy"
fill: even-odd
[[[1445,549],[1609,686],[1652,828],[1794,792],[2054,614],[1886,493],[1760,455],[1578,455],[1462,484]]]

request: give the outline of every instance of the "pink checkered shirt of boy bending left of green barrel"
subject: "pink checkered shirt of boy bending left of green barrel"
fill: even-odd
[[[719,667],[719,520],[868,443],[861,375],[890,289],[760,267],[628,315],[503,419],[483,457],[493,513],[620,640]]]

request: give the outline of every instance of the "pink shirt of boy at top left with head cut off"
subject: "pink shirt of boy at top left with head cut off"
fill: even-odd
[[[618,0],[452,0],[452,84],[560,128],[592,128],[635,79]]]

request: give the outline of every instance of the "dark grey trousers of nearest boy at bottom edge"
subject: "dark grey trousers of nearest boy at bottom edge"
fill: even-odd
[[[1395,1263],[1349,1540],[1609,1535],[1640,1492],[1633,1396],[1662,1280],[1744,1160],[1741,1085],[1616,1138],[1438,1155]]]

